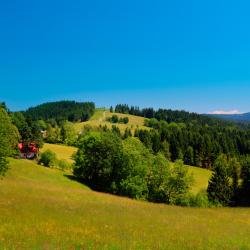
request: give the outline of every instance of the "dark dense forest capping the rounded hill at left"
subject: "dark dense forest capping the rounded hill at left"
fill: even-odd
[[[24,114],[33,120],[54,119],[57,122],[64,120],[76,122],[87,121],[94,112],[95,104],[93,102],[59,101],[29,108]]]

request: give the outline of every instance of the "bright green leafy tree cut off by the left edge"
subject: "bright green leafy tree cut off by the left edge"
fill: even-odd
[[[0,175],[4,175],[7,171],[6,157],[15,153],[19,137],[18,130],[11,123],[6,110],[0,108]]]

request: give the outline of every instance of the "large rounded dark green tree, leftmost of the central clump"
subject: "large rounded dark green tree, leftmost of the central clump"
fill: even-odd
[[[111,132],[90,132],[79,141],[74,174],[92,188],[116,192],[122,161],[122,141]]]

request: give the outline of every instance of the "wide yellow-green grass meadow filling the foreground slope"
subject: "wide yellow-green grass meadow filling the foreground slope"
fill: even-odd
[[[0,180],[0,249],[250,249],[250,209],[140,202],[32,161],[10,167]]]

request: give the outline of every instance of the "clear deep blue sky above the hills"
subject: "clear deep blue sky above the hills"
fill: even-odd
[[[250,111],[250,2],[0,3],[0,100]]]

